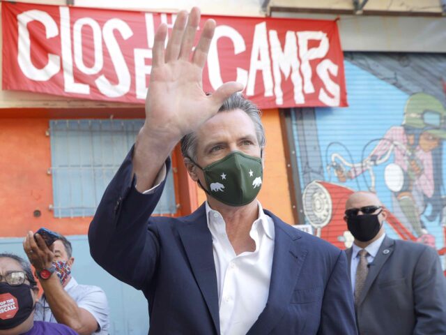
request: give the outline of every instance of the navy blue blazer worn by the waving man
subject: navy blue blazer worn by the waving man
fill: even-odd
[[[220,334],[206,209],[202,205],[181,218],[151,217],[164,182],[153,194],[139,193],[131,155],[91,222],[91,255],[110,274],[144,292],[149,334]],[[247,334],[357,334],[345,253],[265,212],[275,225],[270,291]]]

